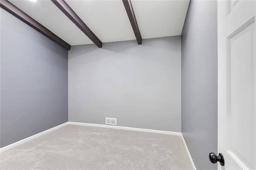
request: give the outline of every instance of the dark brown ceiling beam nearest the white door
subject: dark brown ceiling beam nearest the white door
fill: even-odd
[[[142,38],[140,35],[140,30],[136,21],[136,17],[132,8],[132,2],[131,0],[122,0],[124,3],[124,8],[127,12],[128,18],[130,20],[130,23],[132,25],[133,32],[135,34],[135,37],[137,39],[138,44],[142,44]]]

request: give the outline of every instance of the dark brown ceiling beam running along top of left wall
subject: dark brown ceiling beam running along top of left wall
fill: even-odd
[[[53,34],[50,30],[42,26],[39,22],[28,16],[25,12],[8,2],[7,0],[0,0],[0,7],[18,18],[19,20],[25,22],[38,32],[42,33],[44,36],[50,38],[54,42],[58,43],[62,47],[70,50],[70,45],[66,43],[64,40]]]

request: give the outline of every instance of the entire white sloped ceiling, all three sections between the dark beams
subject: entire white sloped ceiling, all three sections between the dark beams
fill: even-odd
[[[93,43],[50,0],[9,0],[70,45]],[[65,0],[102,42],[136,40],[122,0]],[[189,0],[132,0],[142,39],[181,35]]]

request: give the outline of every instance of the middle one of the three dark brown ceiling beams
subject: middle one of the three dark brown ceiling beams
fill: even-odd
[[[84,24],[79,16],[68,6],[64,0],[51,0],[76,26],[84,32],[92,42],[98,47],[102,47],[102,42],[95,36],[95,34]]]

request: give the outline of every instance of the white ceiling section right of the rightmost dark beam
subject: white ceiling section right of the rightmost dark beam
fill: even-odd
[[[189,0],[131,0],[142,39],[181,35]]]

